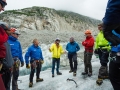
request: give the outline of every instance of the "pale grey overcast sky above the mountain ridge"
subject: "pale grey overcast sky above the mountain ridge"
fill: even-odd
[[[6,10],[22,9],[32,6],[73,11],[102,20],[108,0],[7,0]]]

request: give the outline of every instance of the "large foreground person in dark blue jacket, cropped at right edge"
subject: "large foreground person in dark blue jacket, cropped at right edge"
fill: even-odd
[[[103,24],[104,37],[112,46],[110,57],[113,60],[109,64],[109,78],[114,90],[120,90],[120,0],[108,0]]]

